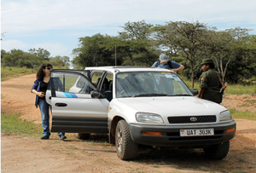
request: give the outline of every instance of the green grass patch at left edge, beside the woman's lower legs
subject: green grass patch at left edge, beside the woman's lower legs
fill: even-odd
[[[29,136],[41,134],[41,125],[34,124],[26,119],[20,119],[20,114],[0,112],[0,132],[9,134],[26,134]]]

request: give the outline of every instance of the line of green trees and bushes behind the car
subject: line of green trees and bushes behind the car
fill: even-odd
[[[199,21],[168,21],[152,25],[144,20],[128,21],[120,26],[117,36],[96,33],[79,37],[78,48],[73,49],[73,61],[68,56],[50,57],[46,49],[29,49],[25,52],[0,49],[0,63],[14,66],[40,66],[50,62],[53,66],[152,66],[159,55],[165,53],[169,60],[183,64],[180,72],[191,80],[201,75],[202,59],[212,59],[216,70],[225,81],[250,84],[256,75],[256,36],[246,28],[219,31]],[[254,78],[252,78],[254,77]]]

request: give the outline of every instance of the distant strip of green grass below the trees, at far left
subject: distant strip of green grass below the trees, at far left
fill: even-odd
[[[33,74],[37,69],[19,68],[19,67],[0,67],[0,81],[9,80],[10,78],[18,78],[27,74]]]

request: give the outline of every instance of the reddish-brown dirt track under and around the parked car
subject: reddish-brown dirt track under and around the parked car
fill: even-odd
[[[40,124],[40,112],[30,93],[35,75],[0,82],[0,112],[20,112],[22,118]],[[242,101],[256,100],[250,95],[225,95],[223,105],[255,111]],[[59,141],[38,137],[0,133],[0,172],[256,172],[256,122],[236,119],[236,137],[230,142],[230,153],[223,160],[209,160],[199,149],[157,150],[144,148],[134,161],[117,158],[115,147],[107,136],[92,136],[79,141],[67,134]],[[101,141],[101,142],[93,142]]]

